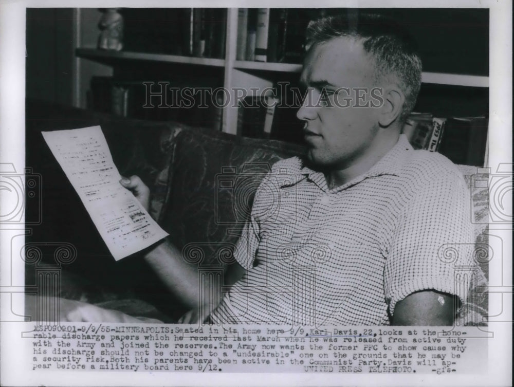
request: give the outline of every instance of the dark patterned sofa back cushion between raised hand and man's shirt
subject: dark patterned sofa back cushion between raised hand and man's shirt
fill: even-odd
[[[241,235],[255,191],[271,165],[305,150],[201,128],[175,135],[159,223],[186,259],[219,265],[223,260],[218,256],[230,251]]]

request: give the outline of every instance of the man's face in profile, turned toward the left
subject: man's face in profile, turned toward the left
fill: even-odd
[[[362,44],[352,38],[334,38],[308,51],[300,81],[307,86],[311,98],[305,98],[297,117],[306,122],[308,157],[314,163],[345,169],[370,151],[379,128],[379,109],[370,103],[369,107],[355,106],[366,105],[358,95],[368,95],[358,89],[374,87],[371,62]],[[345,89],[332,94],[339,88]],[[318,103],[320,97],[330,102]]]

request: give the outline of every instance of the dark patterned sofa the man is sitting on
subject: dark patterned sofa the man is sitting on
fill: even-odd
[[[102,127],[120,173],[138,175],[151,188],[151,215],[183,258],[202,272],[220,272],[230,263],[255,190],[271,165],[305,153],[297,144],[27,101],[26,165],[41,175],[42,200],[41,205],[27,201],[27,216],[41,215],[41,222],[32,226],[26,241],[40,246],[42,259],[26,260],[26,286],[37,287],[40,268],[54,265],[59,270],[58,296],[168,323],[187,308],[166,290],[141,255],[114,261],[40,134],[93,125]],[[480,275],[487,275],[487,188],[474,183],[480,176],[476,167],[460,168],[470,188]],[[73,259],[56,263],[59,243],[72,246]],[[486,278],[480,277],[478,284],[471,303],[463,308],[463,324],[486,323]]]

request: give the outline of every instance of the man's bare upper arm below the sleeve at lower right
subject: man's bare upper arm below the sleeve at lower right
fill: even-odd
[[[453,325],[457,304],[451,294],[418,291],[396,303],[392,325]]]

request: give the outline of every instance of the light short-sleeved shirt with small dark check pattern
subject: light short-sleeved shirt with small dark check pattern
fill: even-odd
[[[446,157],[400,136],[368,172],[329,189],[293,157],[263,179],[234,257],[247,271],[215,323],[384,325],[398,301],[437,290],[465,301],[469,193]],[[464,271],[463,271],[464,270]]]

